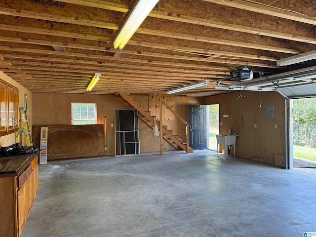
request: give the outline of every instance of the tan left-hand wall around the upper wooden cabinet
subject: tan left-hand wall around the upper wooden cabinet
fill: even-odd
[[[19,90],[19,107],[26,107],[25,102],[25,95],[27,95],[27,112],[28,112],[28,120],[30,129],[32,128],[33,124],[33,108],[32,108],[32,92],[26,89],[24,86],[16,82],[15,80],[8,77],[6,74],[0,71],[0,79],[8,82],[9,84],[15,86]],[[14,144],[15,140],[15,133],[11,133],[9,135],[2,136],[0,138],[0,146],[6,147]],[[22,136],[21,145],[26,145],[25,139]]]

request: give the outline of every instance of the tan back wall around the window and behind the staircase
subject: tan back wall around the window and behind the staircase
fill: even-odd
[[[134,101],[148,110],[148,96],[134,96]],[[180,97],[175,97],[175,110],[179,112],[182,118],[188,118],[188,104],[199,103],[197,99],[186,98],[181,102]],[[34,124],[35,125],[53,125],[53,124],[71,124],[71,103],[96,103],[98,123],[104,124],[104,117],[107,117],[107,147],[106,156],[115,155],[115,129],[111,127],[114,124],[114,110],[126,108],[115,95],[94,95],[94,94],[67,94],[67,93],[33,93]],[[186,119],[187,120],[187,119]],[[185,128],[178,130],[178,120],[163,121],[163,125],[168,126],[168,130],[173,130],[174,134],[185,138]],[[139,119],[140,133],[140,151],[158,152],[159,137],[152,135],[152,127]],[[163,150],[175,150],[169,143],[163,140]]]

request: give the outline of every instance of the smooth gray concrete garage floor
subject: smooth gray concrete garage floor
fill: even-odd
[[[21,237],[303,237],[316,175],[208,150],[53,161]]]

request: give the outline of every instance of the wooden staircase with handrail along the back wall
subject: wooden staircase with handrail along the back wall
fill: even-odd
[[[119,93],[117,94],[117,98],[128,108],[130,109],[136,109],[138,110],[138,117],[141,118],[148,126],[153,128],[154,126],[154,117],[151,116],[150,111],[146,111],[144,107],[139,106],[139,103],[137,101],[133,100],[133,97],[127,93]],[[165,105],[168,107],[167,105]],[[171,110],[172,113],[175,113],[172,109],[167,108]],[[180,118],[177,114],[175,114],[178,118]],[[181,118],[182,119],[182,118]],[[186,134],[188,134],[188,123],[182,119],[182,122],[186,123]],[[156,123],[158,128],[160,127],[160,121],[157,121]],[[168,127],[163,125],[162,126],[162,132],[159,131],[160,134],[162,134],[162,137],[173,147],[175,147],[177,150],[184,150],[186,153],[193,153],[193,148],[189,147],[188,145],[188,138],[186,139],[186,142],[183,141],[183,139],[178,138],[178,135],[174,135],[172,130],[168,130]]]

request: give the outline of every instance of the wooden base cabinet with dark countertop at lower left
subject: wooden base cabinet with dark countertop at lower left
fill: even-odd
[[[0,237],[21,235],[39,191],[38,162],[39,153],[0,158]]]

